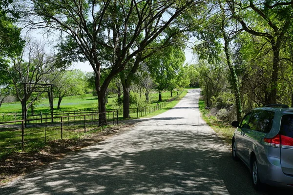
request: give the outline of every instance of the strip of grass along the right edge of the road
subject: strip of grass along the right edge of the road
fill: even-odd
[[[199,100],[199,110],[202,114],[203,119],[207,124],[224,139],[225,142],[231,143],[231,138],[235,131],[234,128],[227,122],[217,119],[217,117],[210,115],[209,110],[205,109],[205,101],[203,99]]]

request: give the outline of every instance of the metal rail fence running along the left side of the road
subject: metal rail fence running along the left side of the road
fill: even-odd
[[[130,108],[129,117],[144,117],[160,110],[178,98],[181,93],[157,105]],[[99,119],[99,116],[104,117]],[[53,117],[47,113],[29,116],[26,120],[2,121],[0,122],[0,152],[11,148],[23,150],[26,144],[37,140],[46,142],[49,139],[63,139],[98,130],[101,128],[99,124],[118,125],[119,119],[122,118],[123,109],[115,109],[105,113],[99,113],[98,110],[55,113]]]

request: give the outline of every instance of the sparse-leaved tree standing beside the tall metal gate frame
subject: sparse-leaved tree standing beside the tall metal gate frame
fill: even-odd
[[[60,60],[56,56],[46,54],[44,44],[28,39],[21,56],[14,58],[12,66],[7,67],[6,73],[12,80],[11,84],[14,85],[15,96],[21,102],[23,119],[28,108],[44,92],[39,88],[39,84],[55,79],[60,74],[60,71],[56,74],[59,65],[61,65]],[[37,93],[32,96],[33,92]]]

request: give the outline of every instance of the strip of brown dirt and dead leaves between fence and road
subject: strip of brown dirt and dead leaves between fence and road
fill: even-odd
[[[132,124],[107,127],[102,132],[86,134],[79,139],[51,140],[38,152],[12,153],[0,159],[0,185],[17,179],[42,165],[76,153],[80,149],[105,140],[107,137],[130,130]]]

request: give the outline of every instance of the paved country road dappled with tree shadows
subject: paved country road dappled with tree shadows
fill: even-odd
[[[252,189],[249,170],[201,119],[199,94],[189,90],[173,109],[14,181],[0,195],[280,194]]]

